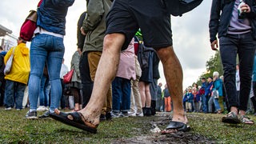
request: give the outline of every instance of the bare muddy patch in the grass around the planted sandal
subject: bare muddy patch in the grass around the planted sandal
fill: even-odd
[[[142,127],[142,130],[133,138],[120,138],[112,141],[114,144],[118,143],[140,143],[140,144],[158,144],[158,143],[171,143],[171,144],[183,144],[183,143],[216,143],[213,140],[206,138],[205,136],[194,134],[190,132],[177,132],[173,134],[161,134],[161,130],[164,126],[168,125],[171,117],[168,114],[158,114],[154,118],[149,118],[146,126]]]

